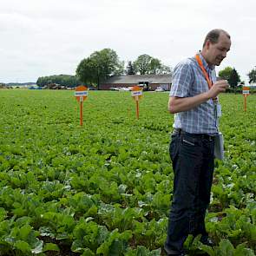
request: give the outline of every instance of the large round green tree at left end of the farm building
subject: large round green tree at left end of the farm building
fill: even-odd
[[[123,74],[123,62],[113,49],[95,51],[88,58],[83,59],[76,68],[76,75],[82,82],[96,84],[100,89],[100,83],[111,75]]]

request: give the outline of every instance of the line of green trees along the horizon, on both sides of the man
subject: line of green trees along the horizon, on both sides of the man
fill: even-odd
[[[100,89],[100,84],[112,75],[172,75],[171,67],[164,65],[161,60],[147,54],[138,56],[132,62],[129,61],[127,67],[114,49],[102,49],[93,52],[89,57],[82,59],[78,63],[75,75],[50,75],[39,77],[36,84],[45,86],[49,83],[57,83],[66,87],[75,87],[81,83]],[[220,70],[220,78],[226,79],[232,89],[237,89],[244,84],[240,80],[240,75],[236,69],[226,67]],[[249,81],[256,82],[256,68],[249,74]]]

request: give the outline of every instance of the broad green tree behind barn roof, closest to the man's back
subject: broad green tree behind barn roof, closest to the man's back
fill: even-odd
[[[162,75],[171,74],[171,69],[161,61],[147,54],[138,56],[134,62],[135,72],[140,75]]]

